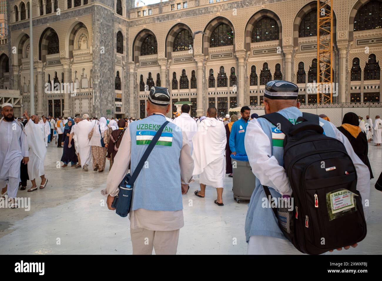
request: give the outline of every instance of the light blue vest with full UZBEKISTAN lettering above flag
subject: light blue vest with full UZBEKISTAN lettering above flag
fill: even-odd
[[[153,136],[165,121],[166,118],[158,114],[129,124],[131,174],[146,151],[150,136]],[[134,183],[131,209],[133,211],[139,208],[152,211],[183,209],[179,167],[183,145],[182,132],[170,122],[164,128],[161,137]]]

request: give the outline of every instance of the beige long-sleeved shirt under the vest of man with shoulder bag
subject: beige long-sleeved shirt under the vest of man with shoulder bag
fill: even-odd
[[[194,182],[192,175],[194,170],[194,161],[191,157],[191,146],[184,132],[183,146],[180,151],[179,166],[182,184],[191,184]],[[101,194],[108,196],[117,196],[118,186],[128,172],[131,161],[131,137],[129,127],[123,134],[118,153],[114,158],[113,166],[107,176],[106,188],[101,190]],[[179,188],[181,186],[179,185]],[[134,192],[133,192],[134,200]],[[152,231],[173,231],[184,226],[183,210],[178,211],[151,211],[138,209],[130,211],[129,215],[131,228],[145,228]]]

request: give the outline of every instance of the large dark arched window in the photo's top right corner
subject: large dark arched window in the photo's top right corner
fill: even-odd
[[[382,2],[370,1],[354,17],[354,31],[382,28]]]

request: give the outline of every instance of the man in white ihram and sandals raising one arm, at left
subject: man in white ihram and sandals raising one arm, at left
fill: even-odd
[[[36,178],[41,177],[40,189],[45,188],[48,182],[48,179],[45,178],[44,169],[44,160],[47,154],[45,127],[42,123],[39,123],[38,116],[32,115],[29,117],[26,110],[23,116],[28,120],[25,133],[29,146],[28,176],[32,182],[32,187],[28,189],[28,192],[32,192],[37,190]]]

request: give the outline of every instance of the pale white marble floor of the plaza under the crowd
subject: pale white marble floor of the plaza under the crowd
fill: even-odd
[[[382,253],[382,193],[374,189],[382,170],[382,147],[370,145],[369,149],[375,179],[371,184],[367,237],[355,249],[330,254]],[[31,198],[30,211],[0,208],[0,254],[131,254],[128,218],[101,206],[105,198],[100,190],[105,187],[108,161],[103,173],[72,167],[57,169],[61,153],[62,148],[49,145],[45,159],[49,182],[44,190],[18,192],[18,197]],[[238,204],[233,200],[231,178],[226,177],[224,186],[223,207],[214,204],[213,188],[207,187],[205,198],[196,197],[193,192],[199,187],[197,181],[183,195],[185,226],[180,231],[178,254],[246,253],[248,201]]]

